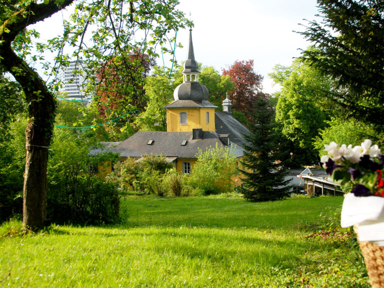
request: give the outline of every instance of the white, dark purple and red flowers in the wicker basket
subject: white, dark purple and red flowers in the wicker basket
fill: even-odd
[[[330,142],[324,150],[327,154],[320,161],[344,190],[351,188],[355,196],[384,197],[384,156],[371,140],[365,139],[354,147]]]

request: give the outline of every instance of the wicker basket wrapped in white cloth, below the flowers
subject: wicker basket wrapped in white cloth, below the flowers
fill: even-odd
[[[372,288],[384,288],[384,198],[356,197],[347,193],[341,210],[341,227],[353,229],[359,241]]]

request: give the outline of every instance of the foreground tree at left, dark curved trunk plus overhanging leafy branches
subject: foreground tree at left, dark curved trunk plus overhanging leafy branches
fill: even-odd
[[[37,61],[41,54],[30,55],[31,38],[38,37],[26,27],[65,9],[73,0],[5,0],[0,7],[0,64],[3,71],[13,75],[21,85],[28,109],[26,136],[26,163],[23,188],[23,226],[39,228],[46,217],[46,172],[55,115],[53,91],[47,87],[27,60]],[[111,55],[126,55],[130,51],[155,56],[156,43],[172,39],[166,32],[191,26],[184,14],[175,9],[176,0],[122,0],[76,1],[75,12],[69,21],[63,21],[61,35],[37,43],[37,52],[59,51],[55,61],[67,65],[69,55],[61,53],[66,44],[74,48],[73,56],[88,63],[90,83],[95,84],[94,71],[100,62]],[[91,36],[87,29],[92,28]],[[137,30],[144,35],[139,38]],[[136,35],[137,34],[137,35]],[[173,39],[174,40],[174,39]],[[28,56],[29,55],[29,56]],[[29,57],[29,58],[27,58]],[[126,57],[122,57],[125,59]],[[45,67],[51,67],[46,61]],[[58,71],[58,65],[49,74]]]

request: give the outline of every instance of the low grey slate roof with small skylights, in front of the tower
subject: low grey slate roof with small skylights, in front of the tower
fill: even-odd
[[[148,141],[153,140],[148,145]],[[186,145],[181,142],[186,140]],[[104,146],[121,157],[141,157],[143,155],[163,155],[167,157],[195,158],[198,148],[205,151],[206,148],[223,146],[218,134],[212,131],[203,131],[201,139],[192,139],[192,132],[162,132],[162,131],[138,131],[121,142],[105,142]],[[242,147],[234,146],[236,157],[243,155]],[[101,152],[101,148],[92,149],[90,154]]]

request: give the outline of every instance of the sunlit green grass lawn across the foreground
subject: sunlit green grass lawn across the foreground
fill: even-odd
[[[122,223],[0,227],[0,287],[369,287],[342,197],[121,201]]]

